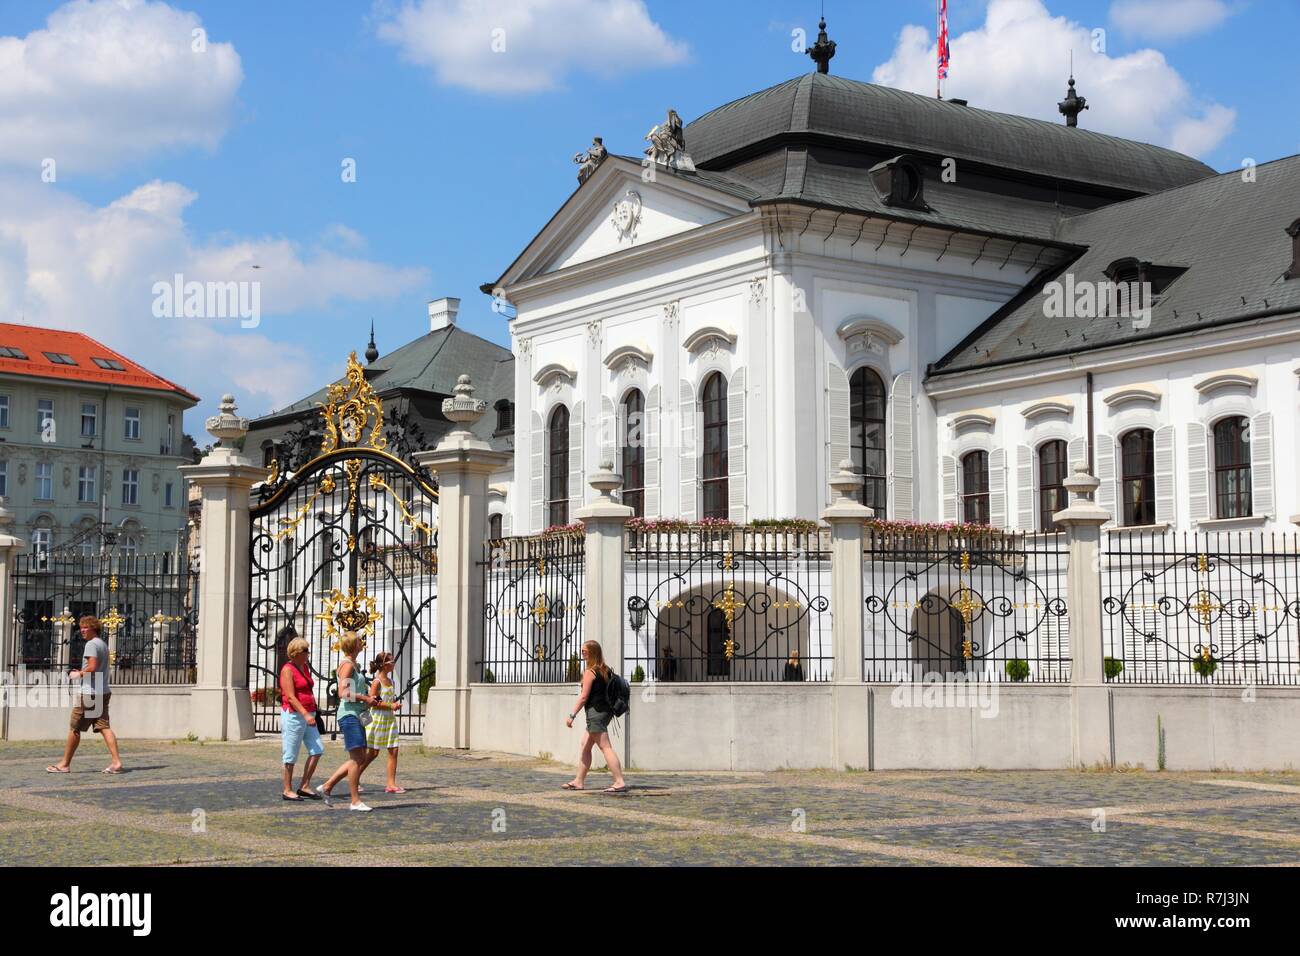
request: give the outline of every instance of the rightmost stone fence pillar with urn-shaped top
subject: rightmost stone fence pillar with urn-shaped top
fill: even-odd
[[[1110,512],[1093,501],[1101,483],[1080,462],[1065,480],[1070,507],[1053,515],[1069,541],[1071,732],[1075,766],[1110,763],[1110,705],[1101,646],[1101,525]]]

